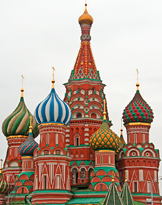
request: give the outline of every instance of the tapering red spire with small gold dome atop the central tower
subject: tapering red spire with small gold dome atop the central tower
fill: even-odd
[[[69,80],[92,79],[101,81],[90,46],[90,29],[92,23],[93,18],[87,11],[86,3],[85,11],[79,17],[79,24],[81,27],[81,47]]]

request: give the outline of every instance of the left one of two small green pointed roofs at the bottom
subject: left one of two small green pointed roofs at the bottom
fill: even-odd
[[[110,184],[109,191],[105,197],[103,205],[124,205],[114,182]]]

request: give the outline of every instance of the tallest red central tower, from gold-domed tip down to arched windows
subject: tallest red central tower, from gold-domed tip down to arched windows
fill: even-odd
[[[72,111],[72,119],[66,130],[66,146],[71,156],[71,185],[88,186],[95,161],[89,140],[102,124],[105,85],[100,79],[91,51],[90,29],[93,18],[87,11],[87,4],[84,13],[79,17],[79,24],[81,46],[70,78],[64,84],[66,87],[64,101]],[[106,120],[111,126],[108,115]]]

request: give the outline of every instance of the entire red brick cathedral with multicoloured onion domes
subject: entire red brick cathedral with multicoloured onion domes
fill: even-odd
[[[122,129],[120,136],[111,130],[87,4],[78,21],[81,46],[64,99],[55,90],[53,67],[51,91],[35,113],[22,88],[19,104],[2,124],[8,148],[0,168],[0,204],[160,205],[160,154],[149,140],[153,110],[137,80],[122,115],[127,140]]]

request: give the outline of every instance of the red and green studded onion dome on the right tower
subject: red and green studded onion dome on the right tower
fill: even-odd
[[[151,107],[142,98],[139,90],[137,90],[134,98],[123,111],[124,124],[126,125],[131,122],[151,123],[153,118]]]

